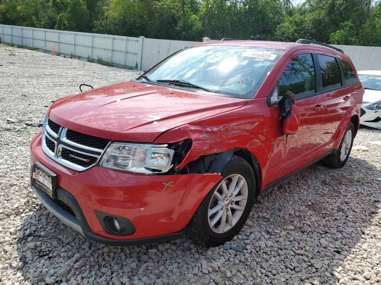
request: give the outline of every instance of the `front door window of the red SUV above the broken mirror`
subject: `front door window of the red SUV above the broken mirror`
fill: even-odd
[[[287,90],[296,97],[315,93],[315,70],[311,54],[300,54],[294,57],[279,78],[279,95],[284,96]]]

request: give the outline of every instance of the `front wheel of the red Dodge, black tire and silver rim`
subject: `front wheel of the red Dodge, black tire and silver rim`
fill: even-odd
[[[255,198],[253,169],[243,158],[233,155],[221,176],[185,228],[189,238],[207,246],[224,244],[239,233]]]

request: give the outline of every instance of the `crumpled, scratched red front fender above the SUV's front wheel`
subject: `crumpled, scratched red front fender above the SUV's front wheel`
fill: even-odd
[[[191,150],[178,168],[203,155],[233,148],[247,149],[257,158],[263,177],[272,145],[273,123],[266,98],[253,99],[240,109],[167,131],[155,143],[178,142],[187,138],[193,140]]]

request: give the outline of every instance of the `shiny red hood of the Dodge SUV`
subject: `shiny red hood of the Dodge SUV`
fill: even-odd
[[[61,98],[51,105],[48,117],[88,135],[152,142],[166,130],[240,108],[247,101],[129,81]]]

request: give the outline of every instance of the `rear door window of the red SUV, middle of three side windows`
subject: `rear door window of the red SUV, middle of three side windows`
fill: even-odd
[[[341,75],[335,57],[318,54],[323,90],[340,87]]]

